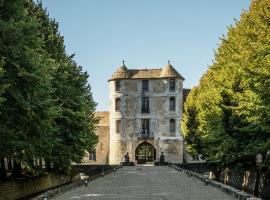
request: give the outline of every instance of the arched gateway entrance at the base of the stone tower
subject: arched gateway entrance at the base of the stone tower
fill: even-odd
[[[138,164],[154,162],[156,160],[156,150],[153,145],[143,142],[135,150],[135,159]]]

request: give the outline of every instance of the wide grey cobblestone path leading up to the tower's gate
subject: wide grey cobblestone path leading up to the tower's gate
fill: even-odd
[[[169,167],[123,167],[57,200],[230,200],[233,197]]]

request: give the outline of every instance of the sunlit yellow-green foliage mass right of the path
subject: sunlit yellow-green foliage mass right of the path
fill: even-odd
[[[221,39],[213,65],[185,104],[182,130],[190,153],[221,167],[254,165],[258,154],[269,163],[269,21],[270,2],[253,0]]]

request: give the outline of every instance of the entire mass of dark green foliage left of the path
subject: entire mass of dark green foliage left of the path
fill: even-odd
[[[0,157],[68,169],[97,142],[88,75],[40,3],[2,0],[0,10]]]

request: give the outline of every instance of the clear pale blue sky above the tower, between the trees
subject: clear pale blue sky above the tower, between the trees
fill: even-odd
[[[97,110],[109,109],[108,79],[129,69],[162,68],[168,60],[198,85],[219,38],[250,0],[42,0],[59,23],[66,51],[89,74]]]

